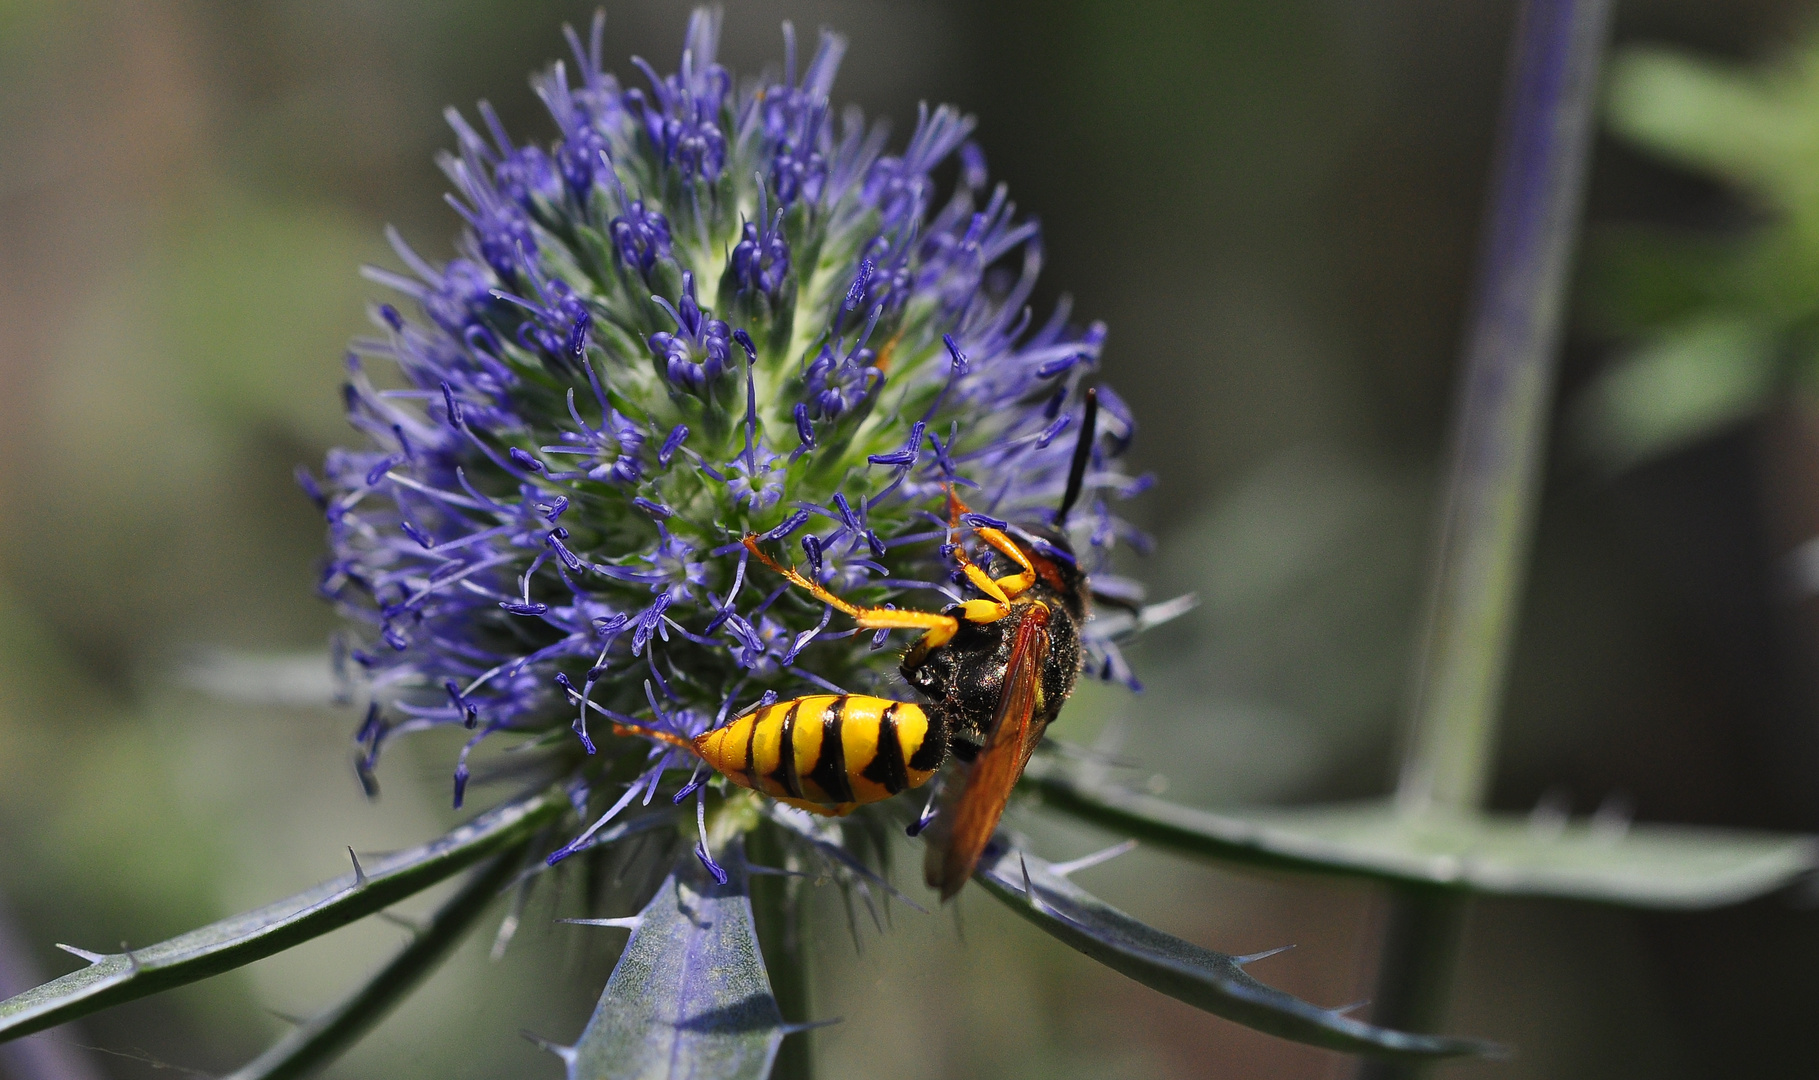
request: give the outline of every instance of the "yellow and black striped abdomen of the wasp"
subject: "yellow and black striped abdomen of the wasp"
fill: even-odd
[[[920,705],[813,695],[735,716],[695,749],[740,787],[846,813],[926,784],[946,749],[930,735]]]

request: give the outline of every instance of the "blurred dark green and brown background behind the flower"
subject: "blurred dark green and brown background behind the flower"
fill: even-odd
[[[344,438],[342,345],[389,222],[446,256],[446,104],[526,85],[591,4],[0,0],[0,904],[16,985],[51,947],[146,944],[453,822],[449,745],[404,740],[380,802],[355,718],[187,689],[195,651],[320,649],[322,525],[291,485]],[[1435,462],[1513,7],[1452,0],[737,4],[724,56],[777,24],[851,38],[837,96],[980,116],[1040,215],[1044,300],[1111,325],[1106,378],[1161,493],[1157,595],[1204,604],[1144,644],[1142,696],[1082,691],[1057,735],[1166,773],[1201,805],[1388,789]],[[668,69],[686,4],[609,4],[608,55]],[[1810,4],[1626,0],[1619,44],[1754,60]],[[1601,136],[1590,249],[1624,229],[1750,229],[1759,205]],[[1581,313],[1563,409],[1623,327]],[[1561,425],[1493,805],[1819,831],[1819,609],[1781,558],[1819,533],[1819,438],[1779,404],[1610,469]],[[1608,464],[1608,462],[1606,462]],[[1055,856],[1100,838],[1026,818]],[[1370,887],[1151,853],[1088,887],[1322,1004],[1370,996]],[[422,898],[411,909],[427,909]],[[1350,1064],[1195,1013],[970,891],[855,949],[819,902],[824,1075],[1344,1076]],[[482,935],[486,936],[486,935]],[[369,920],[84,1020],[93,1076],[216,1075],[335,1000],[404,931]],[[618,935],[549,922],[464,949],[333,1076],[558,1076]],[[4,951],[0,951],[4,955]],[[35,971],[31,971],[35,969]],[[1459,1078],[1784,1076],[1810,1069],[1819,913],[1475,905],[1452,1029],[1519,1047]],[[40,1036],[42,1038],[42,1036]],[[87,1047],[87,1049],[82,1049]],[[7,1058],[0,1058],[4,1062]],[[167,1069],[176,1069],[171,1073]],[[76,1076],[76,1073],[71,1073]]]

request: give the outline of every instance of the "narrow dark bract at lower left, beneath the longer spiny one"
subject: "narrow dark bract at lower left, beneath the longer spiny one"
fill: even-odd
[[[373,1029],[437,964],[462,942],[467,929],[518,869],[517,851],[493,856],[455,896],[437,909],[418,935],[347,1000],[280,1038],[227,1080],[291,1080],[309,1076]]]

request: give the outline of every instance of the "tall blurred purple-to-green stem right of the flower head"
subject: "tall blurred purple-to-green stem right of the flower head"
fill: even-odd
[[[1610,9],[1610,0],[1526,0],[1517,15],[1397,784],[1399,809],[1408,815],[1482,809],[1533,535]],[[1464,904],[1462,893],[1397,889],[1379,965],[1377,1024],[1433,1031],[1442,1020]],[[1424,1071],[1413,1062],[1366,1060],[1359,1075]]]

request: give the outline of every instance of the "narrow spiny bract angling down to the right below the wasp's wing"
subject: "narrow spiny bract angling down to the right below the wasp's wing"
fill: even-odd
[[[1390,1031],[1337,1009],[1304,1002],[1257,982],[1244,971],[1246,962],[1262,956],[1226,956],[1164,935],[1084,893],[1053,873],[1050,864],[1019,851],[988,853],[975,878],[1011,911],[1106,967],[1257,1031],[1375,1056],[1501,1056],[1502,1053],[1495,1044],[1475,1038]],[[1030,891],[1024,889],[1026,880]]]

